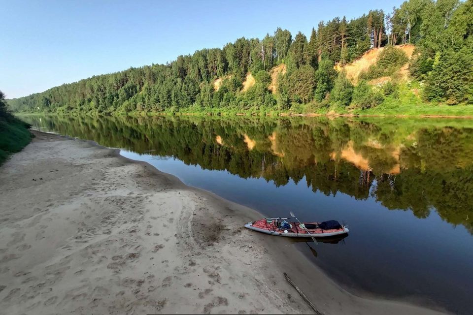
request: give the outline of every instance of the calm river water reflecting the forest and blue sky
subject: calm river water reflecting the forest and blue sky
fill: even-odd
[[[268,216],[292,210],[302,221],[346,222],[350,235],[336,244],[294,246],[356,294],[471,314],[472,121],[22,119],[122,148],[125,157]]]

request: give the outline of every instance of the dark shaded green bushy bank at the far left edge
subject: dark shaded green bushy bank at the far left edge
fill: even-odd
[[[5,95],[0,91],[0,164],[30,142],[29,127],[8,111]]]

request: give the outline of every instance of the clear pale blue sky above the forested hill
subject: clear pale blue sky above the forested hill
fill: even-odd
[[[151,63],[166,63],[277,27],[310,36],[320,20],[402,0],[0,0],[0,90],[7,98]]]

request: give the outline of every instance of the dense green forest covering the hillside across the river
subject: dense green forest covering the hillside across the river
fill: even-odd
[[[402,44],[415,46],[411,58]],[[344,66],[376,48],[375,64],[349,80]],[[408,81],[399,76],[406,63]],[[379,78],[387,80],[372,83]],[[8,100],[16,112],[67,114],[347,112],[403,102],[473,104],[473,0],[408,0],[389,13],[320,21],[309,38],[277,28]]]

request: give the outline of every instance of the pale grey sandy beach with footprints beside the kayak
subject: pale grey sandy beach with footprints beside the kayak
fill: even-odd
[[[354,296],[260,215],[90,141],[33,131],[0,167],[0,314],[437,314]]]

